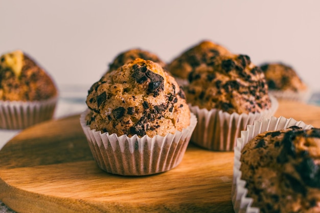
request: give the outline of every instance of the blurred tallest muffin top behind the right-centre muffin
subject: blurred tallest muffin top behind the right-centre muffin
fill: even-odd
[[[208,40],[201,41],[175,58],[169,65],[169,72],[182,79],[188,79],[189,73],[201,66],[212,66],[219,55],[232,55],[223,46]]]

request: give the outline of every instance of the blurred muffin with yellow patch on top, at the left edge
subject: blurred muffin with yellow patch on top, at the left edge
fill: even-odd
[[[20,50],[0,57],[0,128],[23,129],[52,118],[58,92],[52,78]]]

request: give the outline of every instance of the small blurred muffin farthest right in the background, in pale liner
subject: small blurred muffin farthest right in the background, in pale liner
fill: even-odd
[[[261,66],[269,91],[282,100],[308,101],[308,86],[299,77],[296,70],[284,63],[264,63]]]

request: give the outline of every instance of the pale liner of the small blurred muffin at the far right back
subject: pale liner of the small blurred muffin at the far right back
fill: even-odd
[[[278,100],[288,100],[288,101],[298,101],[307,103],[311,98],[311,90],[306,89],[305,91],[279,91],[279,90],[269,90],[269,93],[277,98]]]

